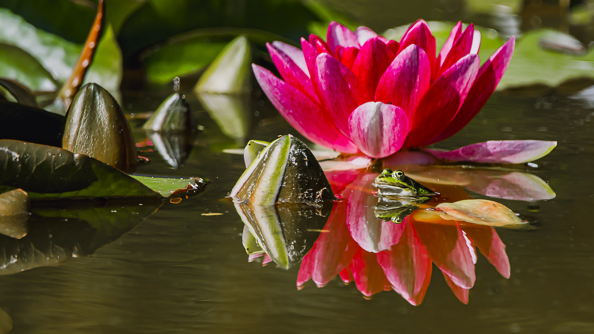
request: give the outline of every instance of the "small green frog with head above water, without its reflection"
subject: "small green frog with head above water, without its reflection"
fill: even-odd
[[[371,184],[377,187],[377,195],[380,197],[416,197],[432,198],[437,195],[431,189],[416,182],[405,175],[403,171],[392,171],[384,169]]]

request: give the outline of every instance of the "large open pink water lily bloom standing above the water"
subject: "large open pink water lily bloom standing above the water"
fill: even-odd
[[[439,54],[424,20],[400,42],[337,22],[326,42],[311,34],[302,50],[268,51],[282,76],[252,65],[268,99],[312,142],[343,153],[386,157],[457,133],[485,105],[510,63],[512,36],[480,66],[481,34],[458,22]]]

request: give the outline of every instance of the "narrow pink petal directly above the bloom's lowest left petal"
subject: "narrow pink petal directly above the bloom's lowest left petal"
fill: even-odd
[[[270,53],[270,57],[274,62],[274,66],[276,66],[280,75],[285,79],[285,82],[298,89],[301,93],[307,95],[309,99],[316,103],[320,103],[318,96],[315,94],[314,86],[311,84],[311,80],[309,80],[309,77],[305,75],[304,71],[293,62],[293,59],[280,49],[274,48],[270,43],[266,43],[266,46]],[[303,53],[301,53],[301,55],[303,55]]]

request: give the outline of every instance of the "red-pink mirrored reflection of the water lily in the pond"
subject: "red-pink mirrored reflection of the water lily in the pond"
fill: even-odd
[[[387,206],[375,196],[377,189],[371,183],[378,174],[362,170],[326,172],[340,200],[334,203],[320,236],[301,262],[298,289],[310,279],[322,287],[340,276],[345,283],[354,282],[365,298],[394,290],[410,304],[419,305],[429,286],[434,263],[456,297],[466,304],[469,289],[476,279],[476,249],[502,276],[509,278],[510,263],[505,245],[492,226],[446,220],[425,209],[440,203],[472,199],[462,187],[467,181],[482,180],[482,186],[493,197],[522,200],[554,197],[548,186],[542,186],[545,182],[522,171],[500,172],[502,175],[515,173],[520,177],[498,180],[495,169],[471,169],[466,174],[454,172],[452,175],[460,178],[457,181],[450,177],[437,182],[451,172],[437,166],[407,165],[402,169],[408,169],[410,174],[407,172],[407,175],[422,181],[440,195],[425,204],[412,203],[413,210],[399,207],[405,202],[397,203],[396,212],[403,218],[399,224],[386,219],[390,213],[384,215],[381,209]],[[491,179],[495,181],[489,181]],[[464,185],[471,188],[473,182]],[[485,182],[491,184],[485,185]],[[416,207],[420,209],[414,210]]]

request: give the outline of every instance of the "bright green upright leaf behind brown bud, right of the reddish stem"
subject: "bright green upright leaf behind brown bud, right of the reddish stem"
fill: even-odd
[[[122,83],[122,72],[122,51],[119,49],[113,27],[108,24],[103,29],[103,36],[99,40],[83,84],[99,84],[121,103],[122,93],[119,86]]]

